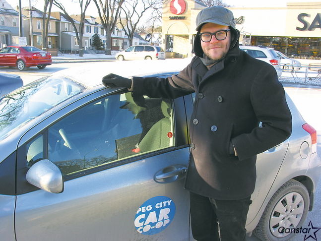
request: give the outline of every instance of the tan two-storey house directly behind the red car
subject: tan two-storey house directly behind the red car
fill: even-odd
[[[42,49],[43,41],[42,41],[42,16],[43,12],[35,7],[23,7],[22,13],[25,15],[23,18],[23,26],[24,26],[24,36],[27,36],[27,43],[31,45],[30,36],[32,36],[33,46]],[[31,13],[32,19],[32,34],[30,34],[30,25],[29,25],[29,17]],[[46,14],[46,17],[48,15]],[[56,22],[59,21],[57,18],[50,16],[48,25],[48,48],[56,49],[59,35],[56,33]]]

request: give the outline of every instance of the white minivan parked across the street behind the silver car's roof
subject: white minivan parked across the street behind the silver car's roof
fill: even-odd
[[[117,60],[165,60],[165,52],[159,46],[134,45],[116,54]]]

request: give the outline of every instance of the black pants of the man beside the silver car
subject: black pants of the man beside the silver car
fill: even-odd
[[[190,197],[195,240],[245,241],[251,196],[239,200],[215,200],[190,192]]]

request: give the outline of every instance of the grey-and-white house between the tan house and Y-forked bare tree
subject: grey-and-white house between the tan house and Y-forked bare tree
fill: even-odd
[[[61,52],[72,52],[79,50],[79,44],[76,38],[76,31],[69,18],[61,12],[51,12],[51,16],[58,19],[56,22],[57,48]],[[72,18],[77,30],[79,31],[80,22]]]

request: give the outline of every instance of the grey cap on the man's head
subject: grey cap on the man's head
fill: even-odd
[[[222,6],[203,8],[196,17],[196,31],[199,31],[204,23],[216,23],[223,26],[231,26],[235,29],[233,12]]]

